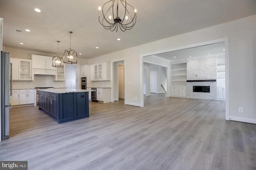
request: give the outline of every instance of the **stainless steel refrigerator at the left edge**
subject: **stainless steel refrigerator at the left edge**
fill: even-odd
[[[1,138],[9,138],[10,133],[10,93],[12,93],[12,64],[10,53],[1,51]]]

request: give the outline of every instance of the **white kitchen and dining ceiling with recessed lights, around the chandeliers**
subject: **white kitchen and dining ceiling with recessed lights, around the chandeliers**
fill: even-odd
[[[137,23],[131,30],[116,33],[98,22],[98,6],[106,1],[0,0],[3,45],[57,53],[56,41],[61,41],[60,51],[68,49],[68,31],[73,31],[72,48],[82,53],[79,57],[90,59],[256,14],[256,0],[127,0],[138,11]]]

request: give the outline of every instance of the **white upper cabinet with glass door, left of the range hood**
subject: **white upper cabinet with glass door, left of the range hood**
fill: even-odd
[[[31,80],[31,60],[19,59],[19,80]]]

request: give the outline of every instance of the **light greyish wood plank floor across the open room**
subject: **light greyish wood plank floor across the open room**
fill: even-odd
[[[29,170],[256,169],[256,125],[225,121],[224,101],[144,99],[90,102],[90,118],[60,125],[38,106],[14,108],[0,160],[28,160]]]

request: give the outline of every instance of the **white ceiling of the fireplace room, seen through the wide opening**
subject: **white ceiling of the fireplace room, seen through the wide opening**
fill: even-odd
[[[170,60],[170,61],[179,61],[182,59],[199,59],[199,58],[204,58],[204,57],[225,55],[224,49],[225,49],[224,43],[216,43],[216,44],[211,44],[211,45],[194,47],[194,48],[190,48],[190,49],[183,49],[183,50],[178,50],[178,51],[171,51],[168,53],[161,53],[161,54],[157,54],[155,56],[158,56],[158,57]]]

